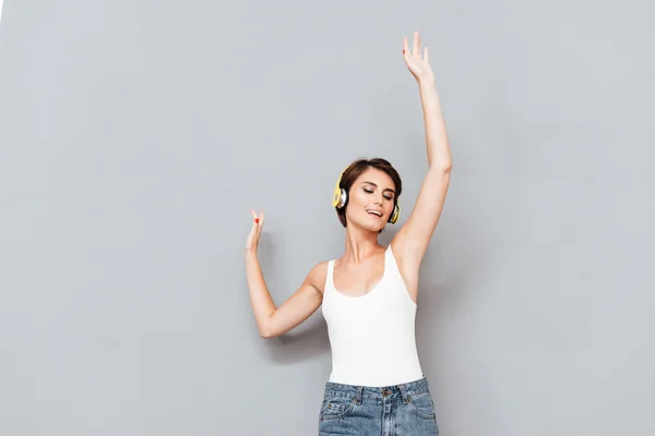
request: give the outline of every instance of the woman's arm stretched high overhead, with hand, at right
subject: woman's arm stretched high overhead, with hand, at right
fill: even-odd
[[[434,75],[428,62],[428,48],[421,56],[418,32],[414,34],[412,51],[403,40],[407,68],[418,83],[426,130],[428,173],[422,182],[416,205],[403,228],[392,241],[394,252],[402,258],[406,276],[417,274],[428,243],[441,216],[452,168],[445,123],[441,112]]]

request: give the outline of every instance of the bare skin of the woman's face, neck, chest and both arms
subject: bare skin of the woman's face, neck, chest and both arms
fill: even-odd
[[[416,303],[419,268],[443,209],[452,159],[434,74],[428,61],[428,48],[421,52],[418,32],[414,34],[412,50],[407,38],[403,38],[403,59],[418,84],[426,130],[428,171],[416,205],[391,241],[391,246],[407,293]],[[378,235],[393,211],[393,190],[392,179],[374,168],[360,174],[350,187],[346,206],[348,226],[345,251],[335,261],[333,277],[335,288],[345,295],[365,295],[382,279],[386,247],[378,242]],[[381,211],[382,217],[371,216],[368,213],[370,209]],[[264,211],[258,215],[251,210],[251,214],[253,222],[245,250],[250,302],[260,335],[262,338],[273,338],[300,325],[319,308],[323,300],[327,261],[317,264],[297,291],[277,307],[258,259]]]

